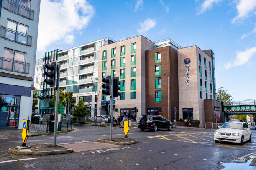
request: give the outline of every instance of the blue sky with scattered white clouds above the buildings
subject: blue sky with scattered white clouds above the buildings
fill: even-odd
[[[217,89],[256,98],[256,0],[41,0],[37,57],[136,35],[212,49]]]

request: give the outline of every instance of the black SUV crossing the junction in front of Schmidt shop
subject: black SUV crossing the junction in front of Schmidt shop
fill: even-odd
[[[161,115],[142,115],[138,121],[138,128],[141,131],[151,129],[157,131],[159,129],[172,130],[172,123]]]

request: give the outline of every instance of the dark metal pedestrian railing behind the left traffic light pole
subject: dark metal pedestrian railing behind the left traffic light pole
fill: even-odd
[[[72,128],[72,120],[61,120],[58,122],[58,131]],[[54,132],[54,121],[30,121],[28,133]]]

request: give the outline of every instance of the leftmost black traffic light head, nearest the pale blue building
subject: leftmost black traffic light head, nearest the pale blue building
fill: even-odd
[[[46,78],[44,82],[52,87],[56,87],[56,75],[57,75],[57,61],[51,62],[51,64],[46,64],[45,67],[49,70],[44,72]]]

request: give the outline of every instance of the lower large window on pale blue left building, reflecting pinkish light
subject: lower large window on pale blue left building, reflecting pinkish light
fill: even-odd
[[[26,53],[5,49],[3,69],[29,73],[29,65],[25,61]]]

